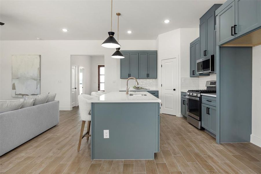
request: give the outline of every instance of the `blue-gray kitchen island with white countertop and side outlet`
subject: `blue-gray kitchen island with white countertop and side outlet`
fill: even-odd
[[[111,92],[91,100],[91,159],[154,159],[161,100],[145,91]],[[109,130],[109,138],[104,138]]]

